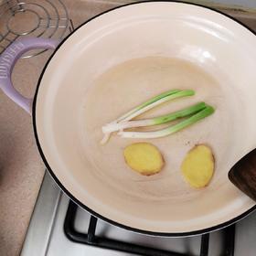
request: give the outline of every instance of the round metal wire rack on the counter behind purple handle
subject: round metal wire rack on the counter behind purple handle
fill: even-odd
[[[0,4],[0,54],[18,37],[61,39],[73,29],[67,8],[60,0],[4,0]],[[44,51],[32,50],[23,58]]]

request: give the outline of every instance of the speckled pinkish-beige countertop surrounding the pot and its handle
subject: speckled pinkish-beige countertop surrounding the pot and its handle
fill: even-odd
[[[132,1],[63,0],[74,27],[116,5]],[[256,19],[234,10],[256,29]],[[51,52],[17,62],[13,81],[18,91],[33,97],[37,80]],[[0,255],[18,255],[26,235],[45,167],[37,152],[31,117],[0,91]]]

